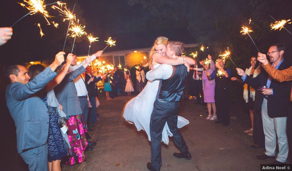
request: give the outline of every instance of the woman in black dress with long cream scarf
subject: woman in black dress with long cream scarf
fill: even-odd
[[[256,77],[261,72],[261,70],[258,67],[257,58],[251,57],[250,58],[250,67],[245,69],[245,73],[248,76]],[[237,77],[231,77],[231,81],[239,81],[243,83],[242,79],[239,79]],[[247,84],[244,84],[243,88],[243,98],[245,100],[245,103],[247,104],[247,107],[249,109],[249,117],[251,122],[251,128],[248,130],[245,130],[245,133],[248,133],[248,135],[253,135],[253,115],[254,115],[254,98],[255,98],[255,88],[252,86],[249,86]]]

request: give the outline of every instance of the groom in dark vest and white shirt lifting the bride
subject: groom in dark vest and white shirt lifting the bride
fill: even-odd
[[[169,41],[166,55],[169,58],[177,58],[183,50],[183,43]],[[150,118],[151,163],[147,163],[148,170],[158,171],[161,168],[161,133],[165,122],[167,122],[173,134],[176,146],[181,151],[181,153],[173,153],[173,155],[177,158],[192,159],[189,148],[177,128],[177,115],[180,108],[179,101],[183,98],[183,89],[185,88],[187,76],[187,67],[184,65],[171,66],[166,64],[162,64],[146,74],[146,78],[149,81],[162,79],[159,83],[157,98],[154,102]]]

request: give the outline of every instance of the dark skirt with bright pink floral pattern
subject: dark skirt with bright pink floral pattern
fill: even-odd
[[[68,139],[71,146],[72,155],[69,155],[66,160],[66,165],[74,165],[82,163],[86,160],[84,150],[88,146],[85,132],[87,132],[84,126],[84,120],[82,115],[70,116],[66,119],[68,126]]]

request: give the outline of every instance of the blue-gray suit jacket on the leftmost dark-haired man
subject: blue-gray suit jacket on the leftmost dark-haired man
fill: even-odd
[[[6,87],[6,104],[16,126],[18,153],[47,143],[48,109],[43,100],[34,93],[41,90],[55,76],[56,73],[47,67],[26,84],[14,82]]]

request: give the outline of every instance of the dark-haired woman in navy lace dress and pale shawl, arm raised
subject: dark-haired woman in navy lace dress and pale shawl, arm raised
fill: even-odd
[[[59,122],[62,127],[66,127],[66,122],[63,118],[66,117],[66,114],[62,111],[63,108],[60,106],[53,88],[60,84],[66,76],[65,72],[68,72],[69,66],[73,60],[72,55],[72,53],[69,53],[66,64],[61,65],[63,67],[62,71],[64,72],[59,72],[52,81],[36,93],[37,96],[43,99],[49,112],[48,170],[61,170],[62,157],[69,155],[68,151],[70,150],[70,143],[68,136],[66,132],[65,134],[62,133],[59,127]],[[34,77],[44,69],[45,67],[40,64],[31,65],[28,68],[30,80],[33,80]]]

